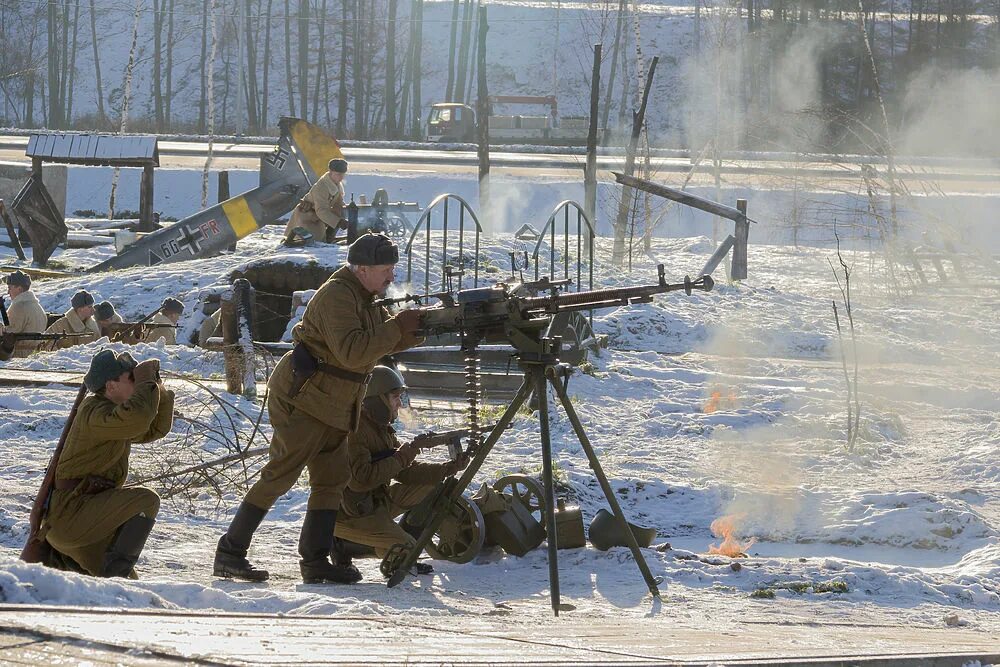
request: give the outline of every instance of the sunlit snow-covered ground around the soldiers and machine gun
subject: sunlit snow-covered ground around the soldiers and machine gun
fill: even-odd
[[[427,192],[417,194],[426,201]],[[74,196],[71,186],[70,208],[82,207]],[[640,256],[630,275],[610,268],[610,239],[601,238],[597,282],[654,282],[656,262],[666,264],[671,281],[695,273],[712,250],[705,234],[695,229],[687,238],[655,239],[653,258]],[[193,307],[197,296],[225,284],[233,269],[265,256],[330,266],[342,260],[334,247],[279,250],[279,235],[280,228],[268,228],[241,241],[235,254],[197,263],[40,281],[36,292],[47,310],[61,311],[86,285],[126,319],[165,296],[179,296],[188,304],[183,338],[202,317]],[[484,245],[489,261],[505,268],[513,239],[500,235]],[[54,259],[88,266],[108,252],[58,251]],[[853,267],[860,364],[861,435],[853,449],[847,447],[846,390],[831,308],[839,298],[830,266],[836,253],[829,248],[751,245],[750,278],[742,284],[726,284],[719,269],[712,293],[670,294],[595,316],[610,349],[593,360],[591,374],[572,378],[569,393],[626,514],[656,528],[654,547],[660,546],[644,555],[664,579],[664,603],[653,603],[627,549],[565,550],[559,554],[562,596],[576,607],[574,617],[598,622],[659,612],[703,627],[758,619],[963,625],[1000,633],[1000,293],[894,293],[878,252],[851,250],[844,258]],[[14,263],[12,251],[0,248],[0,263]],[[39,354],[7,368],[83,370],[105,345]],[[158,357],[175,374],[223,372],[221,355],[195,348],[140,345],[133,353]],[[178,377],[168,384],[177,390],[184,418],[168,439],[133,448],[133,476],[225,454],[225,438],[213,441],[205,424],[229,439],[238,433],[244,446],[266,444],[266,413],[253,433],[259,404],[222,395],[228,402],[223,407]],[[406,611],[491,615],[498,622],[510,616],[511,623],[550,617],[544,549],[523,558],[486,550],[465,565],[435,562],[433,576],[409,578],[391,590],[376,560],[360,561],[364,581],[358,585],[303,585],[296,543],[308,489],[301,482],[279,499],[251,549],[253,561],[271,570],[271,580],[215,580],[215,542],[260,459],[223,480],[221,497],[202,487],[166,498],[137,582],[21,563],[28,508],[74,394],[56,385],[0,389],[7,458],[0,472],[0,599],[8,603]],[[459,418],[414,410],[406,430]],[[605,500],[561,412],[552,437],[560,493],[583,508],[589,524]],[[540,466],[537,421],[518,415],[473,489]],[[165,483],[152,486],[168,495]],[[741,568],[706,555],[719,542],[710,524],[729,515],[741,539],[756,540],[749,556],[739,559]]]

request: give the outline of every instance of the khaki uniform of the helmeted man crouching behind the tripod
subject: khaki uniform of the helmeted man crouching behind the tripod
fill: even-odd
[[[334,535],[375,548],[382,558],[394,544],[413,546],[415,540],[395,518],[418,505],[447,477],[444,464],[417,463],[403,467],[399,440],[391,426],[376,423],[367,412],[348,437],[351,481],[344,492]]]

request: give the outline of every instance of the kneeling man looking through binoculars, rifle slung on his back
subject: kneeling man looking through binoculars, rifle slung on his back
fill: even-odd
[[[122,485],[132,443],[170,432],[174,392],[160,382],[156,359],[137,365],[111,350],[94,355],[83,381],[94,393],[70,427],[41,534],[88,574],[135,578],[160,498]]]

